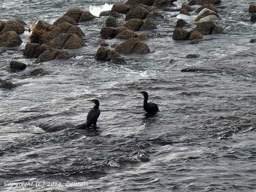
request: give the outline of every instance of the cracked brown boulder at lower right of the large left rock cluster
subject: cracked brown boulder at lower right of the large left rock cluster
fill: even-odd
[[[77,49],[84,46],[84,42],[76,34],[62,33],[48,43],[50,48]]]

